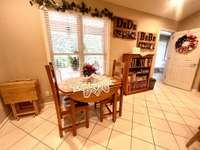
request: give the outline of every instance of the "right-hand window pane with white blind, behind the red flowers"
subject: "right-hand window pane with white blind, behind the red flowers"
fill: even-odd
[[[105,71],[104,20],[83,17],[83,43],[85,63],[94,64],[99,73]]]

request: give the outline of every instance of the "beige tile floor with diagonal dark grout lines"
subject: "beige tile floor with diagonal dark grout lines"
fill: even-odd
[[[187,150],[200,125],[200,95],[157,83],[154,90],[124,96],[123,115],[103,123],[91,112],[90,127],[60,138],[53,103],[37,117],[0,126],[0,150]],[[190,150],[200,150],[194,143]]]

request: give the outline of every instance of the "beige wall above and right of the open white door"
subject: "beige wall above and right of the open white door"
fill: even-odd
[[[178,31],[189,30],[194,28],[200,28],[200,11],[181,20],[178,23]],[[200,65],[198,67],[196,77],[193,84],[194,89],[199,89],[200,91]]]

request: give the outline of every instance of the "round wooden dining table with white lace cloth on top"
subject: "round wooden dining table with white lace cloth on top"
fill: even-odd
[[[63,96],[73,95],[77,92],[82,93],[83,98],[77,98],[76,100],[71,99],[71,115],[72,115],[72,126],[76,129],[75,118],[75,101],[86,102],[86,103],[97,103],[103,99],[101,96],[103,93],[109,93],[112,88],[116,89],[113,98],[113,122],[116,121],[117,116],[117,91],[122,88],[121,80],[105,75],[93,75],[91,77],[75,77],[61,81],[58,84],[59,91]],[[94,108],[94,107],[93,107]],[[76,130],[73,133],[76,135]]]

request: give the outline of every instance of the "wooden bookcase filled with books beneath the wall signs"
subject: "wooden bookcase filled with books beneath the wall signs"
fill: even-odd
[[[153,55],[124,54],[124,92],[126,95],[149,89]]]

